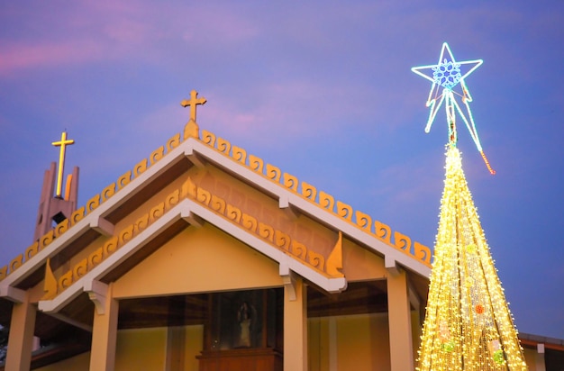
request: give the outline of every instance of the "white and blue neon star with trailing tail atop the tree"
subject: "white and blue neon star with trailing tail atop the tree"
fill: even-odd
[[[470,95],[468,86],[466,86],[466,82],[464,81],[464,79],[474,72],[476,68],[480,67],[482,63],[484,63],[482,59],[457,62],[452,56],[449,44],[444,42],[442,44],[441,56],[437,64],[414,67],[411,68],[411,70],[432,82],[431,91],[429,92],[426,103],[426,106],[431,107],[431,110],[429,111],[429,119],[425,126],[425,132],[431,131],[432,122],[434,122],[441,105],[444,104],[449,126],[450,145],[456,146],[456,113],[459,113],[468,131],[470,131],[470,136],[472,140],[474,140],[476,148],[478,148],[482,158],[484,158],[487,169],[491,174],[496,174],[496,171],[489,165],[489,161],[480,144],[478,131],[476,131],[476,124],[474,123],[469,104],[472,102],[472,95]],[[455,90],[455,87],[459,87],[459,90]],[[461,106],[464,107],[464,110]]]

